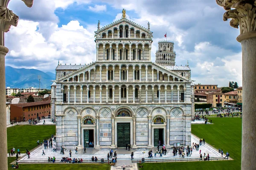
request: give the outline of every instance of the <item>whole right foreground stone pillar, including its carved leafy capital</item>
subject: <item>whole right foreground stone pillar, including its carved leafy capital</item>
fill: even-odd
[[[240,28],[236,38],[242,45],[243,73],[243,118],[241,169],[256,169],[256,0],[216,0],[226,12],[223,20],[230,20],[230,26]],[[232,9],[231,9],[232,8]]]

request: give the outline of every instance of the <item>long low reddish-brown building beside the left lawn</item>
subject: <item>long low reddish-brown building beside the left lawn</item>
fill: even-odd
[[[21,122],[24,119],[37,119],[51,115],[51,101],[11,104],[11,122]]]

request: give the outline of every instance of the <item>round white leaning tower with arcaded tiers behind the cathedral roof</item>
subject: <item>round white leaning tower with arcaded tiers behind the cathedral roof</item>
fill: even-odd
[[[175,65],[175,51],[173,51],[174,43],[169,40],[161,40],[158,42],[158,50],[156,51],[156,63],[163,66]]]

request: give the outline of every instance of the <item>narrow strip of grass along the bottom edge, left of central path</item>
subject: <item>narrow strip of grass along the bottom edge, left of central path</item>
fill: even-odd
[[[8,165],[12,170],[12,164]],[[110,164],[20,164],[21,170],[110,170]]]

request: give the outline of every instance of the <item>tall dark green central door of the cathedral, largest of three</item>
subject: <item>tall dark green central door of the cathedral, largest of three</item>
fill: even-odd
[[[125,147],[131,140],[130,123],[117,123],[117,147]]]

